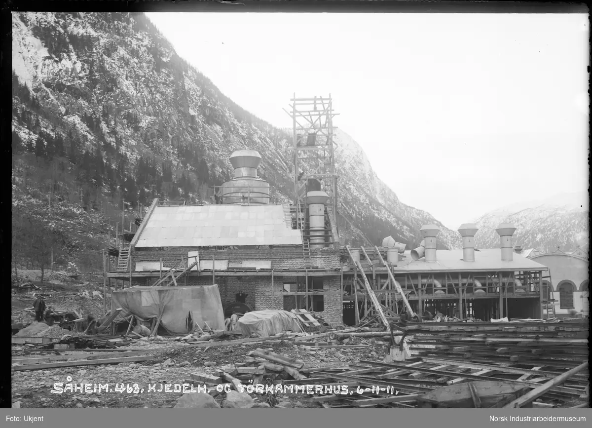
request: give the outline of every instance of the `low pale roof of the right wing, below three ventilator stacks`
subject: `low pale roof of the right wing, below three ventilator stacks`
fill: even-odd
[[[493,250],[475,251],[475,261],[462,260],[462,250],[438,250],[436,252],[436,261],[427,262],[422,260],[413,260],[410,251],[405,251],[405,259],[398,262],[394,267],[394,272],[459,272],[463,270],[482,272],[496,272],[498,270],[547,270],[546,266],[537,263],[530,258],[523,257],[520,254],[513,254],[513,260],[502,261],[499,248]]]

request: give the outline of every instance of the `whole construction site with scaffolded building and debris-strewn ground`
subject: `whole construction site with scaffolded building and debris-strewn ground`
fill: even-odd
[[[589,319],[555,314],[549,268],[514,251],[513,225],[490,249],[472,223],[459,250],[437,249],[433,224],[413,248],[344,245],[332,98],[294,95],[287,113],[292,203],[271,203],[250,149],[217,203],[154,199],[103,250],[101,317],[75,312],[59,337],[17,329],[13,384],[43,370],[53,387],[66,368],[75,384],[208,388],[48,407],[589,407]]]

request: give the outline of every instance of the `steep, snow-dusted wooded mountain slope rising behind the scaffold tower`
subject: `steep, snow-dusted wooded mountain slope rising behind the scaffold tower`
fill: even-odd
[[[210,203],[211,187],[231,177],[231,152],[249,148],[262,155],[272,202],[292,200],[291,137],[222,94],[143,14],[18,12],[12,36],[21,188],[43,170],[59,199],[80,197],[85,210],[105,197],[120,208],[153,197]],[[336,140],[342,244],[392,235],[413,247],[420,226],[436,223],[440,243],[458,246],[455,232],[378,180],[349,136]]]

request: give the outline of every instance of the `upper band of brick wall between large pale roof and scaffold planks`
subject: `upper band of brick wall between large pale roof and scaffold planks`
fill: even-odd
[[[228,260],[240,263],[243,260],[271,260],[272,269],[304,269],[305,261],[301,247],[275,247],[272,249],[242,249],[242,250],[214,250],[200,247],[168,248],[157,250],[156,248],[137,249],[131,251],[133,267],[139,261],[158,262],[161,258],[163,266],[173,267],[187,257],[189,251],[199,251],[200,260]],[[318,248],[310,250],[311,264],[320,269],[338,269],[340,267],[339,250],[335,248]]]

